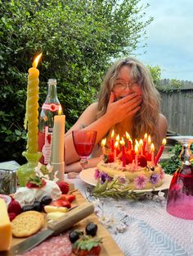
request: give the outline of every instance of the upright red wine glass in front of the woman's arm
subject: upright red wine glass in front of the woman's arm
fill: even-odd
[[[92,149],[96,142],[95,130],[73,130],[74,148],[80,157],[80,165],[82,170],[87,167],[88,156],[92,153]]]

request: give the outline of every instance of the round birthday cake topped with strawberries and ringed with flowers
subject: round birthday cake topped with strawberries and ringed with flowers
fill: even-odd
[[[130,190],[150,190],[162,185],[164,170],[148,152],[143,155],[126,149],[114,160],[114,153],[107,151],[97,164],[95,178],[101,183],[117,180]]]

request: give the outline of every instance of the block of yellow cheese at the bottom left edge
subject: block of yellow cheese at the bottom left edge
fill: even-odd
[[[4,199],[0,199],[0,251],[9,250],[11,240],[11,222],[7,213],[7,204]]]

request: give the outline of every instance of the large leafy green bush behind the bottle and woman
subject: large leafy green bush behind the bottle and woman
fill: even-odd
[[[47,80],[56,78],[67,130],[96,100],[102,76],[114,58],[128,56],[146,35],[139,0],[0,0],[1,123],[0,161],[25,149],[27,70],[43,52],[39,104]]]

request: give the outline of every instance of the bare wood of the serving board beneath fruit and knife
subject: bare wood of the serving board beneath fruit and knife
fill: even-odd
[[[73,202],[73,206],[81,203],[85,203],[86,199],[83,198],[83,195],[79,193],[79,191],[75,191],[74,194],[76,195],[76,200]],[[101,245],[101,256],[123,256],[123,253],[119,249],[119,246],[114,242],[112,236],[110,235],[109,231],[105,229],[104,226],[101,225],[96,215],[93,213],[92,215],[84,218],[81,222],[76,224],[75,228],[80,230],[85,230],[85,226],[89,222],[94,222],[98,226],[97,236],[103,238],[103,242]],[[19,244],[22,240],[19,238],[13,238],[12,245]]]

